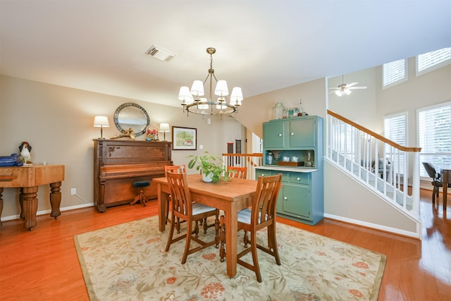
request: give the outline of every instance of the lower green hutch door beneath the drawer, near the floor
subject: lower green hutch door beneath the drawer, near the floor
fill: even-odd
[[[285,184],[283,185],[283,198],[280,199],[283,210],[280,212],[309,219],[309,199],[309,186]]]

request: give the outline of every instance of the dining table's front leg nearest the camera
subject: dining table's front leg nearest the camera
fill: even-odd
[[[230,203],[230,207],[224,210],[226,217],[226,262],[227,276],[233,278],[237,274],[237,210]]]

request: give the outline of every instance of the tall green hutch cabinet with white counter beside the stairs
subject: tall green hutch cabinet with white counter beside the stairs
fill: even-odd
[[[256,169],[258,176],[282,173],[277,214],[286,219],[314,225],[324,216],[323,202],[323,119],[302,116],[278,119],[263,124],[264,156],[271,152],[276,158]],[[313,164],[305,166],[307,154]],[[299,166],[288,166],[283,158],[297,158]],[[295,164],[293,164],[295,165]]]

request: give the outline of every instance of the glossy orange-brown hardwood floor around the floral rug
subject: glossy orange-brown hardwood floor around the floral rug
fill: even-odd
[[[450,300],[451,202],[447,216],[442,206],[432,207],[431,194],[421,190],[421,241],[330,219],[316,226],[279,221],[385,254],[387,265],[378,300]],[[73,235],[156,214],[156,201],[151,201],[147,207],[124,205],[104,214],[89,207],[64,211],[57,220],[38,216],[33,231],[24,230],[19,220],[4,222],[0,230],[0,300],[89,300]]]

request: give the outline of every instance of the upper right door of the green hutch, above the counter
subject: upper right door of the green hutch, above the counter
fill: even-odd
[[[316,146],[316,119],[290,121],[290,147]]]

